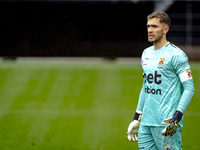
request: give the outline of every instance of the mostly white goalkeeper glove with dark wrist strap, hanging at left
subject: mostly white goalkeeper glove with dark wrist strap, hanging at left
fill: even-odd
[[[129,124],[127,132],[129,141],[138,141],[138,130],[140,127],[141,117],[142,115],[136,112],[133,121]]]

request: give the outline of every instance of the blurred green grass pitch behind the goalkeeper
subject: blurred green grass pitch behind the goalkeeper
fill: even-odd
[[[183,150],[200,149],[200,63],[184,115]],[[1,150],[137,149],[127,140],[139,63],[0,63]]]

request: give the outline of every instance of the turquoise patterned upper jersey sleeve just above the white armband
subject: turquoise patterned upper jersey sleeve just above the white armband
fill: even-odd
[[[190,68],[188,57],[183,51],[180,50],[173,55],[172,66],[176,74],[180,74]]]

